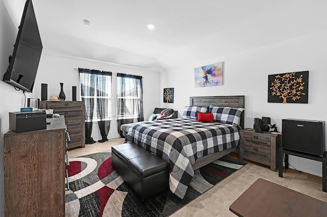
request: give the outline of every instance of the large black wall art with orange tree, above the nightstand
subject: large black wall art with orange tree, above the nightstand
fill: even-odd
[[[309,71],[268,75],[268,102],[308,103]]]

